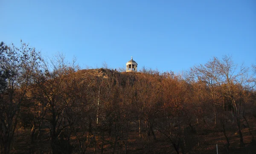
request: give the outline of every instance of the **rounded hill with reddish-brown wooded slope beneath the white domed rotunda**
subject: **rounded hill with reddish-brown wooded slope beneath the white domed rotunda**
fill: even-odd
[[[207,84],[171,72],[101,68],[45,78],[29,87],[11,153],[203,154],[216,153],[216,144],[219,153],[256,152],[254,91],[236,99],[241,145],[232,102],[219,87],[213,106]]]

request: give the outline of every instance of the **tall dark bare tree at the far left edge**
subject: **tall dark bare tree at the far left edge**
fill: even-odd
[[[1,52],[1,70],[8,72],[8,87],[1,94],[0,102],[0,143],[1,152],[8,154],[20,114],[20,106],[26,98],[31,76],[41,62],[40,53],[35,48],[21,42],[17,48],[13,44]]]

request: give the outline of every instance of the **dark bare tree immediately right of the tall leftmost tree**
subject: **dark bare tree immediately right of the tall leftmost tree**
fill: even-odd
[[[69,143],[71,130],[66,115],[74,104],[75,100],[72,97],[76,95],[67,95],[70,87],[67,86],[69,82],[66,78],[78,67],[75,61],[68,63],[61,54],[54,58],[50,59],[49,63],[44,63],[44,71],[37,78],[36,99],[39,104],[44,104],[41,109],[47,111],[39,118],[45,121],[44,126],[50,131],[52,153],[69,153],[72,150]]]

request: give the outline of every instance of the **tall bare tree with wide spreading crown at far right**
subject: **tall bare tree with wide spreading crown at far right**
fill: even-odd
[[[209,85],[214,104],[221,96],[230,100],[233,116],[236,118],[240,145],[244,146],[240,118],[241,107],[244,103],[244,95],[242,94],[251,85],[248,80],[248,68],[243,65],[238,67],[230,56],[224,56],[221,60],[214,57],[206,65],[195,67],[195,70],[197,71],[198,79]],[[218,92],[216,90],[220,90],[221,95],[217,95]]]

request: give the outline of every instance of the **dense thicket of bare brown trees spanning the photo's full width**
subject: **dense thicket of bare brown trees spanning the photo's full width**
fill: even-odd
[[[22,130],[29,136],[25,153],[192,152],[207,133],[198,132],[201,123],[221,132],[227,152],[232,132],[241,147],[244,127],[253,141],[255,79],[228,56],[183,75],[120,73],[79,70],[63,56],[47,63],[24,43],[0,47],[3,154],[15,153]],[[154,151],[161,140],[166,145]]]

